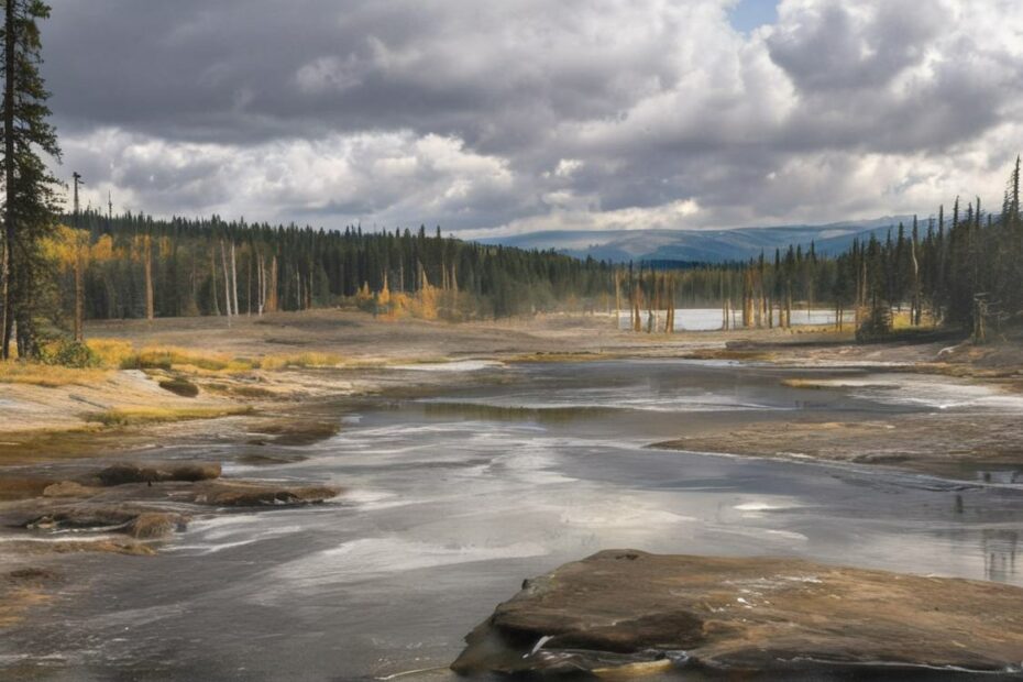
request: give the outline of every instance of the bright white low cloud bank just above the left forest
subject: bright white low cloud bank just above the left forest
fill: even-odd
[[[102,129],[64,144],[68,164],[99,179],[90,196],[105,198],[109,189],[120,207],[166,215],[409,227],[419,224],[424,207],[472,212],[479,197],[514,190],[503,161],[466,151],[454,138],[409,131],[238,146]],[[90,165],[95,160],[106,167]]]

